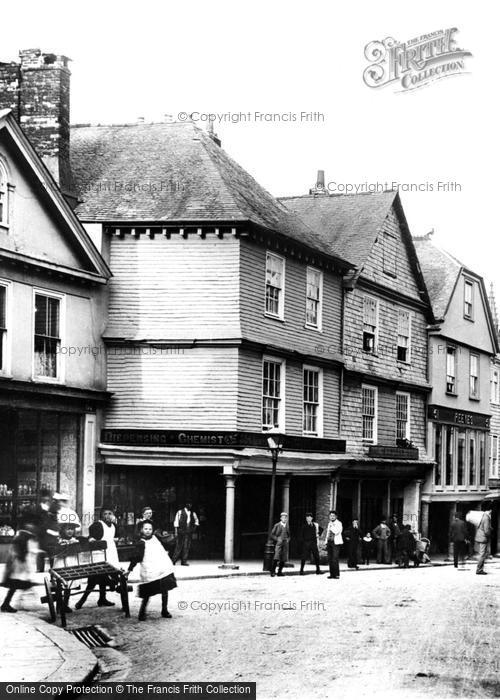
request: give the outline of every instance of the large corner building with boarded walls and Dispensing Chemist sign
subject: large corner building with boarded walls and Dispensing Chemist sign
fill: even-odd
[[[152,505],[169,528],[189,498],[197,556],[261,556],[274,429],[275,511],[292,530],[307,510],[326,519],[351,263],[194,124],[75,127],[71,154],[113,272],[98,502],[124,523]]]

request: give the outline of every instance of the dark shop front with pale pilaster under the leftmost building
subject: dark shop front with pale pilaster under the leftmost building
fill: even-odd
[[[1,544],[11,542],[23,513],[38,505],[43,489],[67,493],[84,532],[88,528],[94,513],[96,399],[104,397],[92,394],[62,388],[14,394],[2,386]]]

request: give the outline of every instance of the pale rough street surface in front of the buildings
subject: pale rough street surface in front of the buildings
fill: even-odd
[[[487,570],[185,581],[171,620],[159,598],[139,622],[134,594],[130,620],[93,596],[69,626],[106,627],[134,681],[256,681],[259,699],[498,697],[500,562]]]

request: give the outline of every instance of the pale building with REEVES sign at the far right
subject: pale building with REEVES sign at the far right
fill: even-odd
[[[429,329],[428,441],[435,467],[422,508],[435,548],[448,548],[456,510],[478,510],[489,491],[492,361],[498,340],[482,278],[441,250],[428,234],[415,239],[433,304]]]

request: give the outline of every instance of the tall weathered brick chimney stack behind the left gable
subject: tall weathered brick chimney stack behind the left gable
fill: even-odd
[[[0,63],[0,109],[12,109],[24,133],[71,205],[76,204],[69,160],[69,59],[40,49]]]

